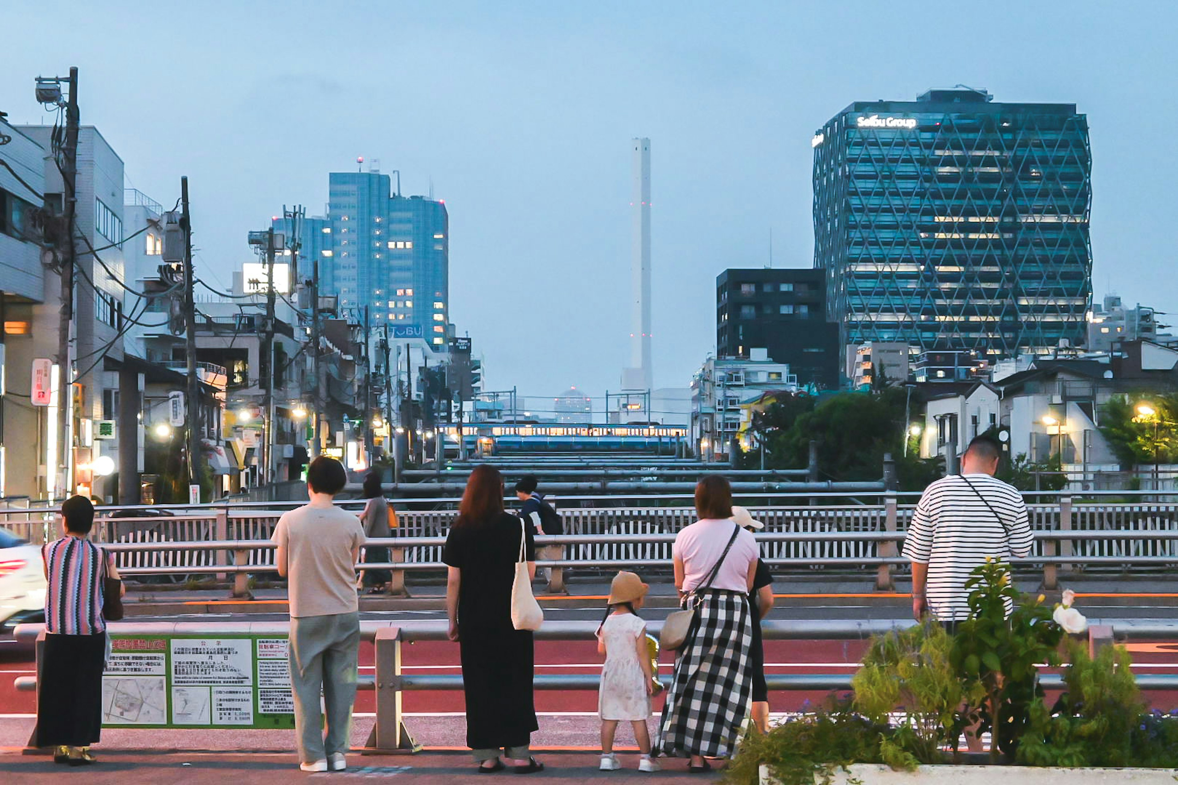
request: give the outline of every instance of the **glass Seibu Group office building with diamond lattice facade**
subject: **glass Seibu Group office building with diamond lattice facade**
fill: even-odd
[[[843,342],[1083,344],[1091,154],[1074,105],[929,91],[852,104],[813,144],[814,266]]]

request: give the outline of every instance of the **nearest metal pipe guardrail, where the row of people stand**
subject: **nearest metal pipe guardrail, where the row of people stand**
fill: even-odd
[[[913,626],[914,621],[888,619],[874,620],[765,620],[761,623],[765,640],[862,640],[874,634]],[[117,636],[168,636],[192,634],[204,636],[231,634],[287,634],[285,621],[262,623],[112,623],[108,632]],[[662,621],[647,623],[648,631],[659,636]],[[593,621],[545,621],[535,632],[536,640],[596,640],[597,625]],[[461,674],[417,674],[405,673],[402,660],[402,645],[417,641],[448,640],[448,624],[444,621],[362,621],[360,638],[372,641],[376,652],[376,667],[372,677],[360,676],[358,687],[376,692],[376,724],[369,734],[365,751],[390,753],[418,751],[421,747],[405,725],[402,699],[406,691],[461,691]],[[38,664],[45,641],[45,625],[22,624],[14,632],[18,640],[38,643]],[[1171,619],[1090,619],[1090,646],[1096,648],[1116,640],[1178,638],[1178,621]],[[1137,684],[1143,690],[1178,691],[1178,674],[1138,673]],[[812,691],[812,690],[851,690],[849,673],[770,673],[766,674],[769,690]],[[664,686],[670,678],[660,676]],[[1046,690],[1064,687],[1059,674],[1045,673],[1039,683]],[[597,673],[536,674],[532,677],[535,690],[596,690],[600,684]],[[18,690],[37,690],[37,679],[20,677],[14,680]],[[35,738],[35,730],[33,737]]]

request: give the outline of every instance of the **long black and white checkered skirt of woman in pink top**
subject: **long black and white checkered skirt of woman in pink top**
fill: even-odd
[[[675,659],[656,746],[664,756],[726,758],[735,752],[753,686],[748,597],[703,592],[695,620]]]

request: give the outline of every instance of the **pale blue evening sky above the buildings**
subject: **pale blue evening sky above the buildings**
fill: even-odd
[[[617,388],[631,137],[653,149],[655,381],[682,386],[719,272],[767,264],[770,227],[777,266],[812,265],[814,129],[959,82],[1087,113],[1097,297],[1178,311],[1176,2],[8,0],[0,20],[0,111],[39,121],[33,76],[79,66],[128,185],[171,204],[190,177],[200,272],[226,285],[249,229],[322,212],[357,155],[432,181],[491,387]]]

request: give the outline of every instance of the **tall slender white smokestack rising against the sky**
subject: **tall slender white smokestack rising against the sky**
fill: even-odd
[[[630,367],[624,390],[654,387],[650,368],[650,140],[631,142],[630,184]]]

